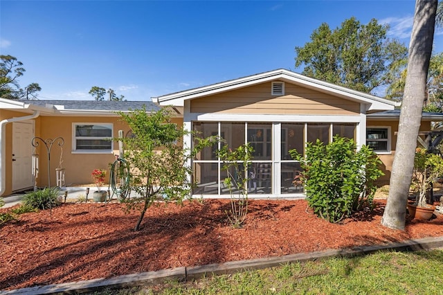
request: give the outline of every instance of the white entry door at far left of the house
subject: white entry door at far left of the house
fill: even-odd
[[[12,190],[32,188],[33,121],[12,123]]]

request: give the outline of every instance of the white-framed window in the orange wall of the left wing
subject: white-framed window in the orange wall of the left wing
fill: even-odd
[[[73,123],[73,152],[112,152],[112,123]]]

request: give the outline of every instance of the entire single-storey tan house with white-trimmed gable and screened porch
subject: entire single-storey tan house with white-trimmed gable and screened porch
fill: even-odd
[[[152,98],[150,102],[6,100],[0,98],[0,195],[33,186],[57,184],[56,168],[64,168],[64,183],[91,183],[94,169],[108,169],[120,154],[118,142],[129,127],[116,111],[156,111],[172,106],[173,122],[198,136],[219,135],[231,148],[251,143],[255,153],[249,171],[250,197],[302,197],[296,181],[300,165],[289,150],[303,153],[305,142],[324,143],[339,134],[368,144],[383,161],[388,182],[395,153],[399,111],[396,102],[278,69],[244,78]],[[424,113],[423,132],[442,114]],[[119,132],[121,130],[121,132]],[[39,142],[34,146],[33,138]],[[59,145],[60,139],[63,144]],[[44,141],[51,140],[51,161]],[[183,143],[192,145],[192,136]],[[35,143],[35,142],[34,142]],[[192,165],[194,197],[230,197],[226,172],[215,157],[219,146],[197,154]],[[36,156],[38,155],[38,157]],[[38,161],[38,165],[37,165]],[[49,163],[49,165],[48,165]],[[38,168],[36,170],[35,168]],[[37,178],[35,178],[35,173]],[[49,177],[48,177],[49,175]]]

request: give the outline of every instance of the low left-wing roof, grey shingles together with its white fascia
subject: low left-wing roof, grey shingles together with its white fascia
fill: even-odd
[[[49,116],[57,114],[71,116],[118,116],[116,111],[132,111],[145,105],[147,111],[158,111],[160,107],[152,101],[109,101],[109,100],[6,100],[0,98],[0,108],[29,111],[39,109]]]

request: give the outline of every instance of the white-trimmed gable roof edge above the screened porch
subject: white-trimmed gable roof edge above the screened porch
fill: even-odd
[[[297,84],[301,87],[314,89],[316,91],[329,93],[331,95],[345,98],[347,100],[360,102],[367,106],[366,109],[368,111],[391,110],[398,105],[397,102],[394,102],[392,100],[379,98],[378,96],[372,96],[368,93],[355,91],[346,87],[341,87],[321,80],[316,80],[314,78],[309,78],[305,75],[300,75],[299,73],[295,73],[293,71],[288,71],[285,69],[277,69],[274,71],[250,75],[244,78],[228,80],[217,84],[210,84],[204,87],[170,93],[164,96],[153,98],[153,100],[159,103],[159,105],[174,105],[177,107],[183,107],[185,100],[192,100],[194,98],[201,98],[216,93],[232,91],[234,89],[249,87],[255,84],[275,80]]]

